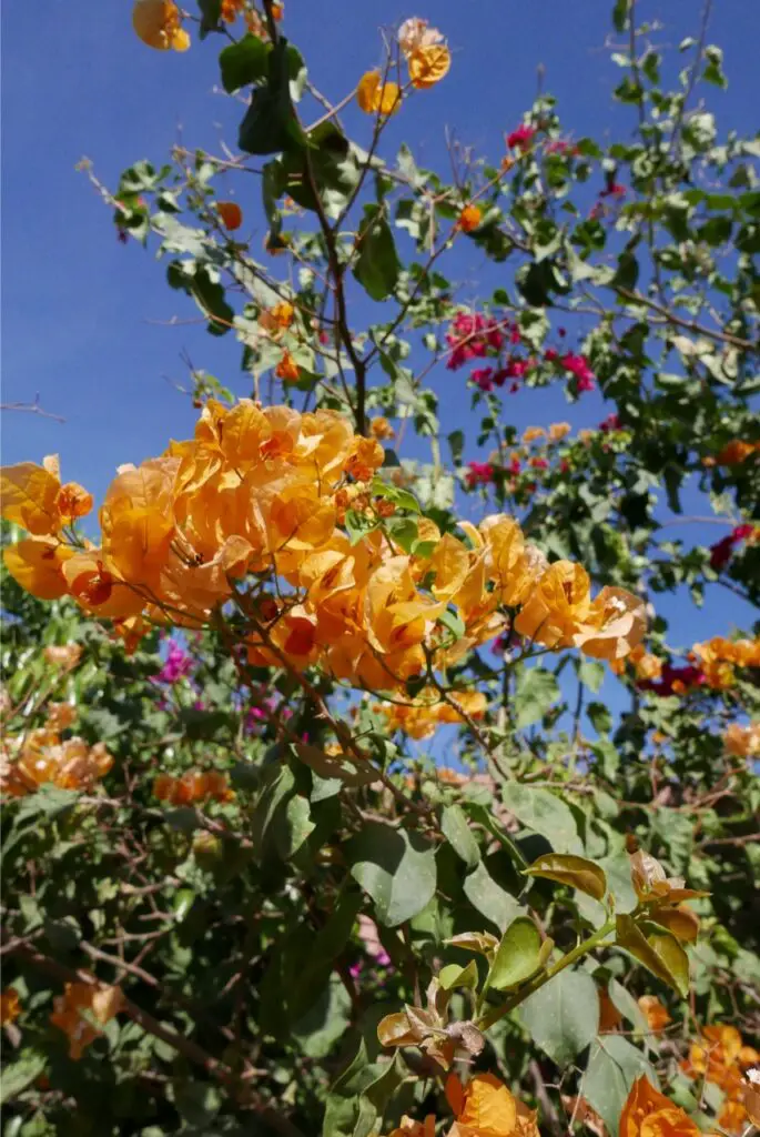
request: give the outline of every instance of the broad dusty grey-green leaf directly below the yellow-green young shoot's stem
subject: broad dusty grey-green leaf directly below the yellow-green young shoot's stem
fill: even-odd
[[[525,1001],[519,1013],[552,1062],[569,1065],[596,1034],[596,985],[587,971],[560,971]]]

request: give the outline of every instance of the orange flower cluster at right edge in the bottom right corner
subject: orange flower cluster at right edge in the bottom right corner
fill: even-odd
[[[702,1037],[694,1043],[682,1070],[688,1078],[708,1081],[724,1092],[718,1124],[728,1132],[741,1134],[748,1124],[748,1104],[757,1089],[745,1071],[760,1062],[760,1052],[745,1046],[736,1027],[716,1023],[702,1029]]]

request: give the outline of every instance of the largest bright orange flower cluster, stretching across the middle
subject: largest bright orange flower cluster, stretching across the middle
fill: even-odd
[[[42,467],[6,468],[11,520],[23,499],[34,533],[6,561],[34,595],[68,594],[123,623],[201,626],[233,598],[252,665],[319,665],[374,690],[404,689],[499,636],[506,609],[520,609],[520,636],[550,648],[613,659],[641,640],[640,600],[618,588],[592,598],[581,565],[549,565],[510,517],[462,522],[462,539],[425,517],[414,538],[404,520],[400,545],[383,530],[392,500],[381,493],[387,509],[359,506],[383,459],[376,440],[332,412],[210,400],[194,439],[120,468],[100,511],[99,548],[64,540],[51,524]],[[378,480],[373,488],[384,491]],[[454,615],[460,634],[449,630]]]

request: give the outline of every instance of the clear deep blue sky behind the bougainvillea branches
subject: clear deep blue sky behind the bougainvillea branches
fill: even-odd
[[[628,113],[611,100],[619,72],[604,49],[610,8],[611,0],[427,0],[411,9],[396,0],[286,0],[284,32],[303,50],[315,83],[337,100],[379,59],[381,25],[409,15],[437,25],[453,50],[451,74],[404,105],[392,130],[393,141],[412,143],[421,165],[441,166],[446,125],[477,152],[501,156],[503,132],[535,96],[540,63],[568,133],[604,139],[628,130]],[[711,101],[719,125],[751,133],[760,106],[760,8],[755,0],[716,0],[713,8],[709,39],[725,50],[729,89],[711,88]],[[240,107],[212,91],[217,41],[194,42],[183,56],[151,51],[133,35],[131,10],[130,0],[45,0],[42,8],[6,5],[2,15],[3,401],[39,393],[45,409],[66,417],[59,424],[5,415],[2,460],[59,451],[64,478],[97,497],[118,464],[156,455],[169,437],[192,432],[189,401],[166,381],[184,379],[183,349],[197,366],[248,393],[232,335],[219,340],[201,325],[151,323],[192,317],[195,309],[167,288],[151,251],[117,242],[109,210],[74,168],[87,155],[114,185],[135,159],[160,164],[179,132],[186,144],[215,152],[220,139],[234,146]],[[658,38],[675,49],[695,32],[701,2],[642,0],[640,10],[665,22]],[[367,130],[366,121],[350,117],[349,126],[354,123]],[[258,181],[241,181],[233,192],[248,208],[248,191],[251,216]],[[477,279],[482,267],[473,262],[463,277]],[[488,281],[494,283],[493,269]],[[462,298],[475,294],[475,285],[466,287]],[[463,379],[441,370],[435,387],[451,430],[469,402]],[[559,390],[523,392],[507,405],[520,429],[563,418],[575,428],[595,425],[607,409],[595,396],[568,408]],[[677,532],[695,541],[721,536],[717,528]],[[700,636],[746,622],[729,594],[712,600],[700,616]],[[668,616],[674,642],[691,642],[688,601],[668,601]]]

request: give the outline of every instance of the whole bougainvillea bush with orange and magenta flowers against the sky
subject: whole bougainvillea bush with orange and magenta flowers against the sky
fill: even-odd
[[[612,20],[619,141],[542,94],[448,181],[421,17],[333,105],[282,5],[137,0],[236,144],[84,168],[241,372],[97,512],[2,471],[8,1137],[760,1124],[760,140]]]

